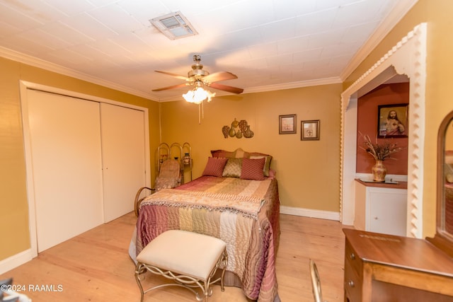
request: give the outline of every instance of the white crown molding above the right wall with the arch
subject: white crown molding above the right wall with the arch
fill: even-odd
[[[354,57],[350,60],[349,64],[340,74],[340,79],[345,81],[345,79],[352,74],[360,63],[365,60],[365,58],[374,50],[377,45],[384,40],[384,37],[390,33],[396,24],[398,24],[401,19],[406,16],[406,13],[418,2],[418,0],[401,0],[397,1],[395,7],[389,13],[389,16],[382,21],[381,24],[377,27],[374,33],[369,37],[367,42],[365,42],[360,50],[357,51]]]

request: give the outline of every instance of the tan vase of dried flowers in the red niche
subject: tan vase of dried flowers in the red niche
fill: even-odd
[[[378,144],[376,141],[376,144],[373,144],[368,135],[364,135],[363,138],[365,140],[365,148],[361,148],[367,151],[367,153],[369,153],[371,156],[373,156],[374,160],[376,161],[376,164],[371,169],[373,173],[373,180],[375,182],[384,182],[385,175],[387,174],[387,169],[383,162],[387,158],[396,159],[392,158],[391,154],[401,151],[401,147],[397,147],[396,143],[389,140],[386,140],[381,144]]]

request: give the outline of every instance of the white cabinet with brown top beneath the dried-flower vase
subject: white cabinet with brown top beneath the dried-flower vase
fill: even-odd
[[[357,230],[406,236],[407,184],[355,182]]]

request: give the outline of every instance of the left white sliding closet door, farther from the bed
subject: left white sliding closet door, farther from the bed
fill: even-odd
[[[103,222],[99,115],[99,103],[28,90],[38,252]]]

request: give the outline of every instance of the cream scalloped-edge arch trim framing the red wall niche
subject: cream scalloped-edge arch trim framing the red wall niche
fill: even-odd
[[[407,235],[423,236],[423,146],[425,143],[426,30],[420,23],[341,94],[340,213],[354,221],[357,98],[397,74],[410,79]]]

